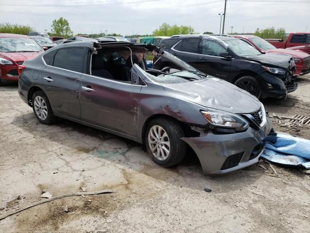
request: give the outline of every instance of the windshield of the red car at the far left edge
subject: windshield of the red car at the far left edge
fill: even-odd
[[[40,52],[42,48],[31,38],[2,37],[0,38],[1,52]]]

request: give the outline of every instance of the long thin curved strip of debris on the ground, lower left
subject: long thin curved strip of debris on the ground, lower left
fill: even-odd
[[[67,197],[72,197],[72,196],[81,196],[81,195],[95,195],[95,194],[104,194],[104,193],[115,193],[116,191],[115,190],[111,190],[111,189],[104,189],[104,190],[100,190],[100,191],[94,191],[94,192],[85,192],[85,193],[70,193],[70,194],[64,194],[62,196],[57,196],[57,197],[53,197],[53,198],[50,198],[50,199],[47,199],[47,200],[41,200],[41,201],[38,201],[38,202],[34,202],[24,208],[21,208],[20,210],[16,210],[10,214],[6,214],[4,216],[0,216],[0,220],[8,217],[8,216],[11,216],[11,215],[15,215],[21,211],[24,211],[24,210],[27,210],[33,206],[37,206],[37,205],[40,205],[40,204],[43,204],[43,203],[46,203],[46,202],[49,202],[49,201],[52,201],[52,200],[57,200],[57,199],[61,199],[61,198],[67,198]]]

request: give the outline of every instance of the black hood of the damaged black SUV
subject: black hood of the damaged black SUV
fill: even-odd
[[[259,62],[264,65],[272,65],[284,69],[292,69],[295,66],[293,57],[289,54],[266,53],[257,56],[245,56],[244,59]]]

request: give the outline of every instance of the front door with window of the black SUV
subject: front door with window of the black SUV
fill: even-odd
[[[213,38],[202,38],[200,55],[198,56],[198,69],[205,74],[224,80],[229,79],[232,60],[220,57],[219,54],[227,49]]]

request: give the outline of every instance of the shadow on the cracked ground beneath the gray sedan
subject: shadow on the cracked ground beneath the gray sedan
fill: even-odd
[[[204,176],[199,159],[192,150],[188,150],[185,159],[179,165],[161,167],[152,161],[145,147],[139,143],[64,119],[53,125],[44,125],[38,122],[32,112],[16,116],[11,124],[35,137],[72,148],[77,153],[87,153],[108,160],[118,167],[130,168],[180,187],[198,190],[206,187],[216,190],[217,193],[226,193],[255,183],[264,174],[261,167],[253,165],[229,175]],[[69,135],[69,138],[64,139],[61,135],[63,133]],[[72,140],[70,135],[78,139]],[[87,144],[83,143],[82,138],[88,138]],[[249,175],[253,172],[255,176]]]

